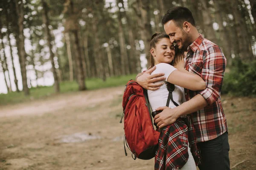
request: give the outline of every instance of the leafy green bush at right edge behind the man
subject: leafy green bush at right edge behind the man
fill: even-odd
[[[230,71],[225,73],[222,94],[256,96],[256,60],[245,63],[233,59]]]

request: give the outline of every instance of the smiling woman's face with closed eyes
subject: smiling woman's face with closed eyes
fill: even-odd
[[[154,57],[154,65],[159,63],[171,63],[175,56],[174,45],[169,38],[162,38],[156,44],[156,48],[151,49],[151,54]]]

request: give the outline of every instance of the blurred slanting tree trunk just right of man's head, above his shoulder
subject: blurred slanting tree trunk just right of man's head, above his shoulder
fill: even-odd
[[[212,27],[212,18],[211,14],[209,12],[209,9],[207,7],[208,0],[200,0],[202,4],[202,14],[204,18],[204,26],[205,26],[205,33],[206,38],[214,43],[217,43],[217,39],[215,37],[215,31]]]

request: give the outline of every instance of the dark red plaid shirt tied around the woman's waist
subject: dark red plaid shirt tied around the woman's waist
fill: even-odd
[[[189,147],[195,164],[198,165],[200,152],[195,139],[195,129],[190,116],[186,116],[161,129],[154,169],[179,170],[189,159]]]

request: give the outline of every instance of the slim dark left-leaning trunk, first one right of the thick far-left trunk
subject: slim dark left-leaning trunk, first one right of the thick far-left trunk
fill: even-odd
[[[53,74],[53,78],[54,78],[54,90],[55,93],[59,93],[60,92],[60,85],[59,85],[59,80],[58,80],[58,76],[57,76],[57,72],[56,72],[56,68],[55,68],[55,64],[54,64],[54,54],[52,52],[52,44],[51,44],[51,34],[50,34],[50,30],[49,30],[49,18],[48,18],[48,7],[47,7],[47,3],[44,2],[44,0],[42,0],[42,5],[43,5],[43,22],[45,24],[44,29],[45,29],[45,35],[46,35],[46,39],[47,39],[47,46],[49,48],[49,53],[50,53],[50,59],[51,59],[51,63],[52,63],[52,74]]]

